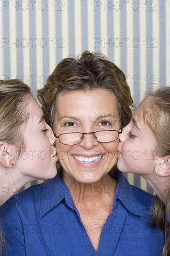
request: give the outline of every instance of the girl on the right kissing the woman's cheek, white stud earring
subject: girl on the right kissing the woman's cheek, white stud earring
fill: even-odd
[[[146,95],[119,135],[118,168],[141,175],[155,190],[152,226],[165,231],[163,256],[170,255],[170,87]],[[125,157],[125,151],[128,155]],[[133,158],[132,152],[140,156]],[[142,162],[142,165],[141,165]]]

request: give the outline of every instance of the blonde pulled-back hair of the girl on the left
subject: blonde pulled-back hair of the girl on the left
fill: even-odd
[[[20,154],[24,145],[21,125],[31,94],[30,88],[20,80],[0,80],[0,141],[15,145]]]

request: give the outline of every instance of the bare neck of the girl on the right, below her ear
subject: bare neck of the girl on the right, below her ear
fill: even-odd
[[[159,176],[156,173],[142,176],[150,184],[158,197],[166,204],[166,190],[170,186],[170,177]]]

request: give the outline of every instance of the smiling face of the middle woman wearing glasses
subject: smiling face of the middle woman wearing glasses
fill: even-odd
[[[96,89],[59,94],[54,121],[56,135],[107,129],[120,129],[116,99],[111,92]],[[64,175],[82,183],[98,182],[117,162],[118,142],[117,139],[100,143],[93,134],[87,134],[79,144],[68,146],[57,138],[56,148]]]

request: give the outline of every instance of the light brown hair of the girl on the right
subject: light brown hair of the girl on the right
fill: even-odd
[[[159,156],[170,155],[170,87],[157,89],[146,95],[143,104],[144,122],[156,138],[156,151]],[[170,183],[164,192],[166,204],[156,195],[151,226],[164,230],[165,245],[163,256],[170,255]]]

